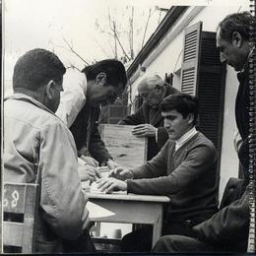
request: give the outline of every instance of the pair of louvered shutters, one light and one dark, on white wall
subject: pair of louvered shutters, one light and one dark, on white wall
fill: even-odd
[[[185,30],[181,92],[198,96],[197,129],[222,152],[225,66],[216,48],[216,32],[202,32],[202,23]]]

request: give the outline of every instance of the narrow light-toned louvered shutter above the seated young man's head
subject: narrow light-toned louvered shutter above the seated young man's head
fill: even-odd
[[[202,22],[185,29],[181,92],[196,95]]]

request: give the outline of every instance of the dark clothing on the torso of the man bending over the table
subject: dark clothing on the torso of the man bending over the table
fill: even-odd
[[[98,132],[98,115],[100,109],[88,103],[81,109],[70,127],[78,152],[87,147],[90,155],[98,162],[111,159]]]

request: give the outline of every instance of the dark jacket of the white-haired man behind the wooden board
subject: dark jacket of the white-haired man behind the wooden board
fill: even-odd
[[[172,87],[167,87],[165,96],[173,95],[177,91]],[[163,127],[163,117],[160,108],[154,116],[150,118],[150,106],[143,102],[142,106],[132,115],[126,116],[118,124],[138,125],[149,123],[158,128],[158,142],[155,137],[148,138],[148,156],[147,160],[153,159],[159,152],[165,142],[168,140],[167,130]]]

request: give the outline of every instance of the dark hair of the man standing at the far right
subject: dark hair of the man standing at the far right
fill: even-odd
[[[249,40],[252,23],[255,23],[255,18],[249,12],[234,13],[227,15],[217,30],[220,30],[221,37],[229,42],[233,32],[239,32],[244,40]]]

